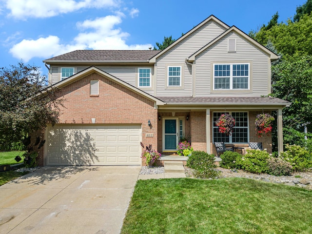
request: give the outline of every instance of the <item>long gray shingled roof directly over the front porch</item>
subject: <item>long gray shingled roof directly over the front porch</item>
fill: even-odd
[[[291,104],[280,98],[273,97],[156,97],[167,104]]]

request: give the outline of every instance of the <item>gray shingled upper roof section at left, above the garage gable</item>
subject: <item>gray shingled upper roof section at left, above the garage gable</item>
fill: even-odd
[[[75,50],[44,61],[147,61],[160,50]]]

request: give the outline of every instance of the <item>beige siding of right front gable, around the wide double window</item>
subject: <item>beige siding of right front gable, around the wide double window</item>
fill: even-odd
[[[236,39],[236,52],[228,52],[228,39]],[[250,90],[213,92],[213,63],[250,63]],[[222,96],[236,97],[261,96],[268,94],[269,71],[268,56],[249,42],[231,33],[217,41],[195,59],[196,97]]]

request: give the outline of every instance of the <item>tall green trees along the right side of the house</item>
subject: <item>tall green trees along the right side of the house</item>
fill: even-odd
[[[273,15],[268,25],[250,35],[281,56],[272,63],[272,96],[292,102],[283,109],[284,143],[312,151],[312,0],[297,7],[294,21],[278,23]],[[301,10],[300,10],[301,9]],[[304,14],[299,14],[304,12]],[[310,12],[311,13],[311,12]],[[269,26],[270,25],[270,26]],[[274,133],[273,133],[274,136]],[[273,138],[273,144],[274,144]]]

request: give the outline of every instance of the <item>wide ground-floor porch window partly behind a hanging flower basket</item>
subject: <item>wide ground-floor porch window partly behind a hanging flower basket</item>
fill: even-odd
[[[230,114],[235,119],[235,126],[231,135],[219,133],[216,121],[222,114]],[[248,112],[215,112],[213,116],[214,142],[248,143]]]

